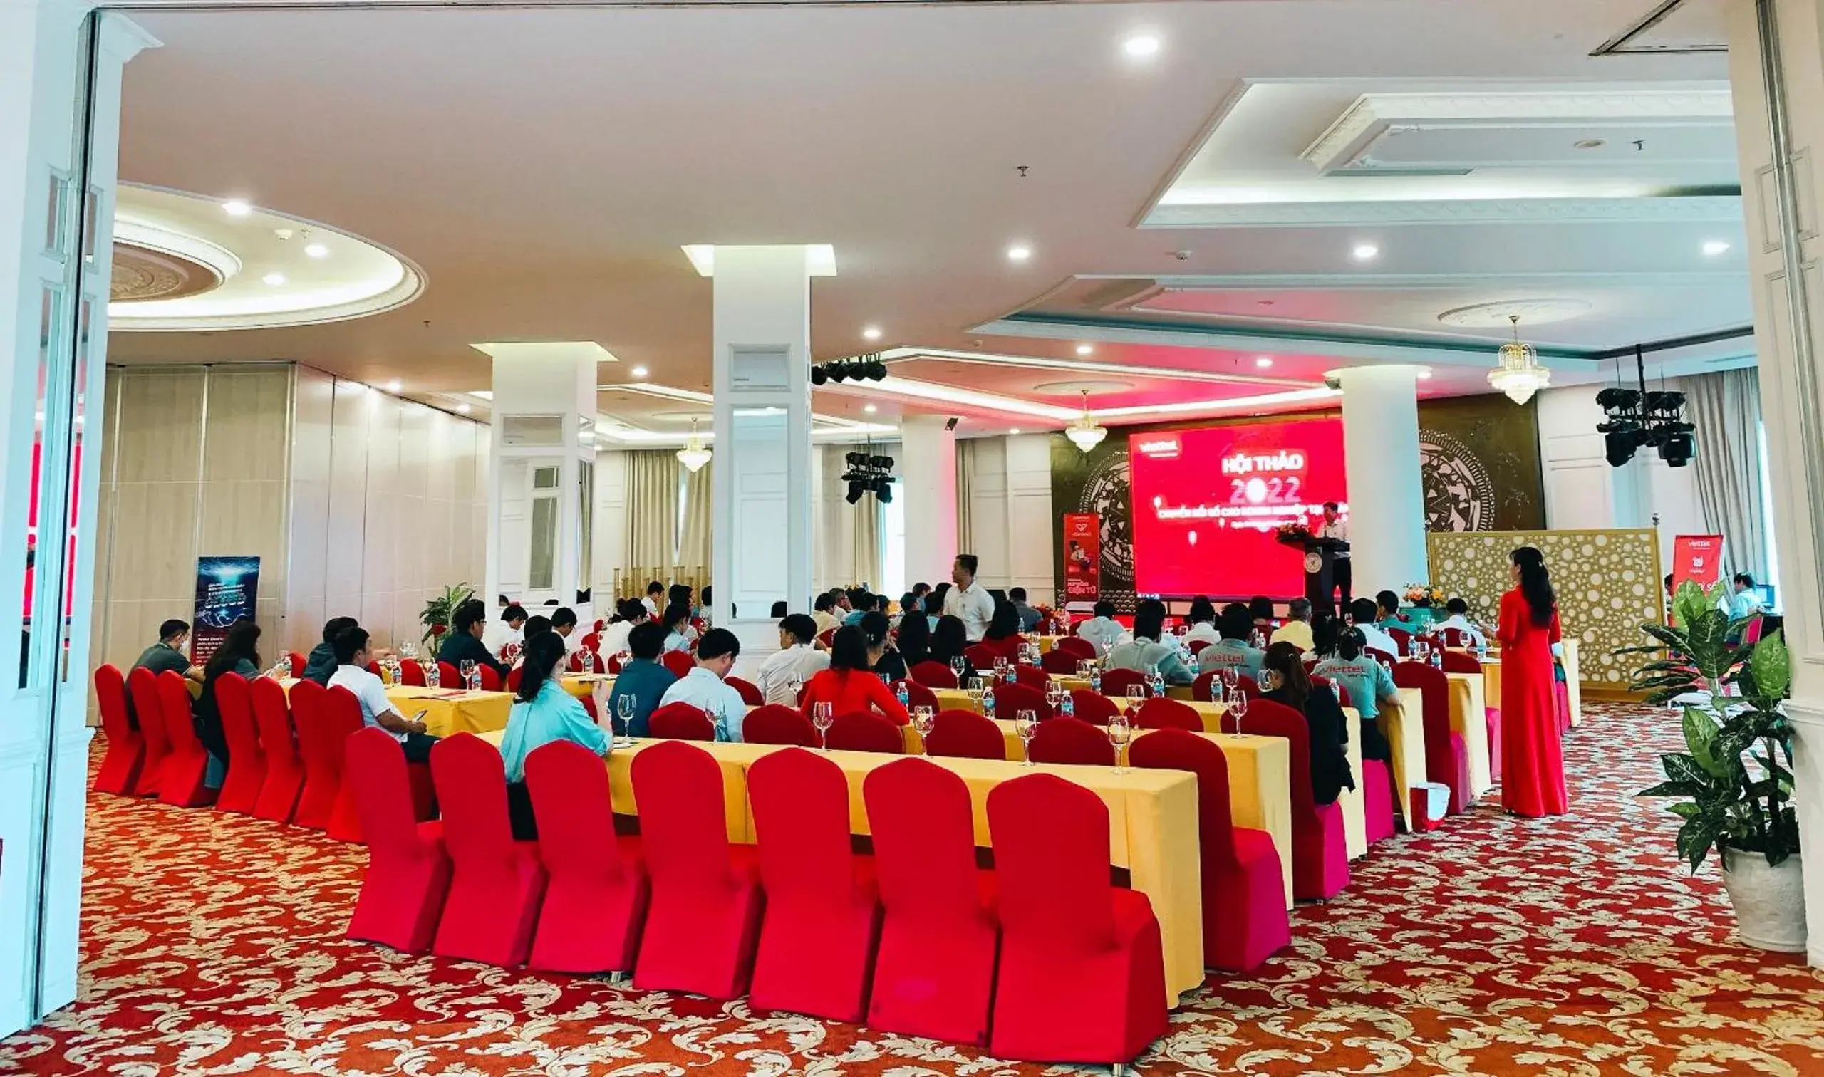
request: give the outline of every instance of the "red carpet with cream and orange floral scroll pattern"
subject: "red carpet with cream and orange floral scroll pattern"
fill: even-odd
[[[1824,1073],[1824,975],[1731,940],[1715,867],[1632,798],[1665,713],[1591,707],[1569,820],[1481,807],[1355,866],[1293,948],[1213,977],[1145,1073]],[[0,1042],[31,1073],[1062,1073],[746,1004],[343,942],[361,851],[91,800],[82,1000]]]

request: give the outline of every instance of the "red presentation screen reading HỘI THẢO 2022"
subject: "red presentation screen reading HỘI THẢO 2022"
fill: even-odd
[[[1342,419],[1135,434],[1127,454],[1142,594],[1304,594],[1302,556],[1273,532],[1315,530],[1324,501],[1348,514]]]

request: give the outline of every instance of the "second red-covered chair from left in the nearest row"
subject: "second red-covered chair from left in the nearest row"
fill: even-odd
[[[430,953],[502,968],[525,964],[545,867],[538,842],[513,836],[500,749],[472,733],[445,736],[430,749],[430,778],[451,853],[451,891]]]

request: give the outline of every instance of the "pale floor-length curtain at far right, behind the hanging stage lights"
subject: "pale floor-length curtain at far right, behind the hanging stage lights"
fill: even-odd
[[[1724,536],[1736,572],[1767,580],[1767,536],[1760,516],[1760,377],[1753,368],[1680,379],[1685,417],[1698,428],[1704,523]]]

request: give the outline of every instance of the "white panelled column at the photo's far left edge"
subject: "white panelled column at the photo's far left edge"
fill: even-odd
[[[0,1037],[77,997],[100,452],[91,441],[73,481],[71,463],[82,432],[106,421],[120,69],[157,46],[119,15],[91,18],[93,7],[0,0],[0,594],[26,587],[35,441],[44,446],[36,470],[46,536],[35,556],[31,643],[24,656],[18,636],[0,645]],[[91,69],[93,86],[84,87]],[[86,217],[95,222],[88,235]],[[60,538],[71,523],[67,561]],[[64,580],[73,589],[67,634]]]

